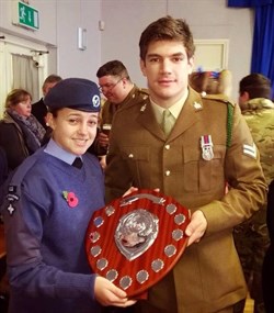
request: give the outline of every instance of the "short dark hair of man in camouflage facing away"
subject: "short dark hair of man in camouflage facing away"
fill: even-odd
[[[249,93],[249,99],[271,99],[271,80],[262,74],[251,74],[240,80],[240,94]]]

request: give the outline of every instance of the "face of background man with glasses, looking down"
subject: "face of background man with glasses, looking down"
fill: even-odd
[[[118,76],[103,76],[99,78],[100,90],[110,102],[121,103],[125,99],[125,80]]]

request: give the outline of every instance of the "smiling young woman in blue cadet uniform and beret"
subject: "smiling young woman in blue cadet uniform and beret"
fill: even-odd
[[[91,272],[85,255],[89,221],[104,206],[101,166],[85,154],[96,135],[99,89],[88,79],[64,79],[45,103],[52,138],[16,169],[2,206],[9,312],[96,313],[132,305],[124,290]]]

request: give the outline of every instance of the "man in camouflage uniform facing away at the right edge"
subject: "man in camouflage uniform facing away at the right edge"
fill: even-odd
[[[270,100],[271,81],[263,75],[251,74],[240,81],[239,92],[239,104],[260,150],[269,185],[274,179],[274,103]],[[261,287],[262,262],[270,244],[265,208],[266,204],[252,219],[235,228],[236,246],[250,295],[254,300],[254,313],[265,312]],[[243,308],[239,312],[243,312]]]

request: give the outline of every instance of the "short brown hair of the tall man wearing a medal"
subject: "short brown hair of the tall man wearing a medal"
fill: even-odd
[[[147,26],[141,33],[139,41],[140,58],[142,60],[146,60],[149,44],[158,41],[182,42],[187,57],[191,58],[194,55],[195,45],[193,35],[189,24],[182,19],[173,19],[168,15]]]

